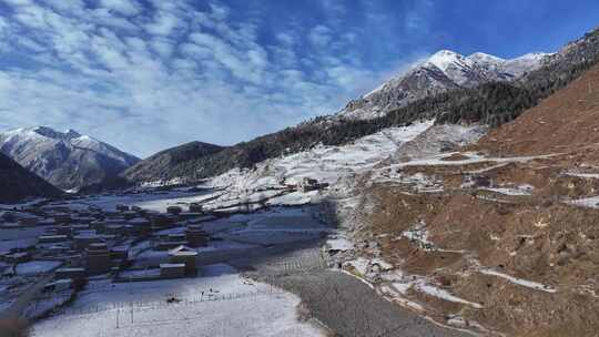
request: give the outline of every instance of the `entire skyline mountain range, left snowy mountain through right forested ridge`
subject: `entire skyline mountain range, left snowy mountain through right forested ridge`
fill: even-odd
[[[516,119],[599,61],[599,30],[559,52],[504,60],[443,50],[336,114],[232,146],[192,142],[146,160],[123,153],[74,131],[19,129],[0,134],[0,151],[63,190],[94,185],[102,191],[141,183],[190,183],[267,159],[344,145],[386,127],[420,120],[437,124],[486,124]]]

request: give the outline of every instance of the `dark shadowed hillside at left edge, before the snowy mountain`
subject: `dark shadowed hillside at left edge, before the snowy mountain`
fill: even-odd
[[[61,193],[43,178],[0,153],[0,203],[14,203],[26,197],[52,197]]]

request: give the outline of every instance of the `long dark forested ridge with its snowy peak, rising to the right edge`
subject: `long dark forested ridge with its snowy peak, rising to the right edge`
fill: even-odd
[[[142,161],[124,176],[135,184],[194,182],[235,167],[254,167],[274,159],[313,149],[343,145],[386,127],[420,120],[437,124],[509,122],[564,88],[599,60],[599,30],[568,43],[557,53],[530,53],[504,60],[485,53],[464,57],[443,50],[339,112],[319,116],[220,151],[187,151],[177,161]],[[141,170],[143,167],[143,170]]]

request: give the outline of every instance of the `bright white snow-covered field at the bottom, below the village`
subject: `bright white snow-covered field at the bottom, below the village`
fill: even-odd
[[[212,265],[204,274],[84,292],[61,315],[33,325],[31,335],[322,336],[296,319],[296,296],[242,278],[227,265]]]

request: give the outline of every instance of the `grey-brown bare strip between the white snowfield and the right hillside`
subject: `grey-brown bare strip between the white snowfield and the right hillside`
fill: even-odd
[[[248,275],[298,295],[315,319],[341,336],[471,336],[440,327],[384,299],[358,278],[325,266],[319,249],[312,247],[255,263]]]

